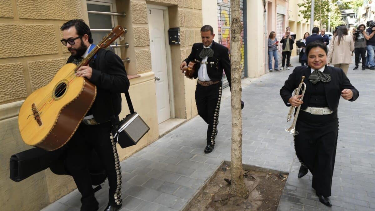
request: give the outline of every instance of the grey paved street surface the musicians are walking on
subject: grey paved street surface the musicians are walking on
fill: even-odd
[[[294,66],[298,57],[293,57]],[[360,92],[355,102],[341,99],[339,137],[328,208],[311,187],[312,175],[297,178],[299,162],[293,136],[284,128],[289,110],[279,90],[293,71],[272,72],[242,80],[243,163],[290,172],[278,210],[375,210],[375,71],[353,71],[348,78]],[[196,116],[121,162],[123,208],[121,210],[181,210],[222,160],[230,160],[231,102],[223,90],[216,146],[205,154],[207,124]],[[108,203],[108,184],[96,194],[99,206]],[[79,210],[77,190],[45,210]]]

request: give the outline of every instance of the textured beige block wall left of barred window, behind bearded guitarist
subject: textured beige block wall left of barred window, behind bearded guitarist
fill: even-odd
[[[21,182],[9,179],[9,158],[30,149],[18,131],[18,111],[32,91],[48,83],[69,54],[60,44],[60,26],[88,20],[86,2],[4,0],[0,7],[0,206],[2,210],[39,210],[75,188],[70,176],[50,170]],[[67,13],[66,11],[70,11]]]

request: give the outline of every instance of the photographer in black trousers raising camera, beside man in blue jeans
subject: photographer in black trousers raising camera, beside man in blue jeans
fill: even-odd
[[[355,28],[354,28],[355,29]],[[354,31],[354,30],[353,30]],[[361,24],[357,27],[357,30],[353,32],[354,41],[354,53],[356,54],[356,67],[353,70],[358,69],[359,56],[362,57],[362,70],[365,70],[366,66],[366,48],[367,40],[370,39],[369,33],[365,31],[365,24]]]

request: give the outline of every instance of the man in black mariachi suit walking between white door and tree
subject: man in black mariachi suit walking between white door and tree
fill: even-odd
[[[198,78],[195,90],[195,102],[198,114],[208,124],[207,146],[205,153],[212,152],[219,123],[220,99],[222,94],[223,70],[231,86],[231,61],[228,48],[213,41],[213,28],[205,25],[201,28],[202,42],[193,44],[191,53],[180,69],[184,71],[189,62],[196,62],[193,78]]]

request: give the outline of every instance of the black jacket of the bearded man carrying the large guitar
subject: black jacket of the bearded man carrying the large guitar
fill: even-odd
[[[67,63],[74,60],[68,58]],[[97,122],[102,123],[121,112],[121,95],[129,89],[125,66],[120,57],[112,51],[100,49],[94,60],[89,63],[93,69],[90,82],[95,84],[97,93],[95,101],[88,113],[92,113]],[[112,101],[112,105],[110,103]]]

